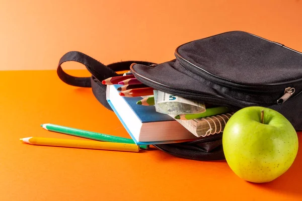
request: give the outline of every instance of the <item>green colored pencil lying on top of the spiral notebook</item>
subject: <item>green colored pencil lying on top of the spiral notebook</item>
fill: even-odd
[[[181,119],[181,120],[191,120],[191,119],[198,119],[198,118],[210,117],[213,115],[228,113],[229,111],[230,110],[228,108],[221,106],[215,108],[207,108],[204,113],[177,115],[174,118]]]

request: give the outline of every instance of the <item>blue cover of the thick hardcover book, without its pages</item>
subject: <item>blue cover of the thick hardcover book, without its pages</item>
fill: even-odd
[[[129,133],[129,135],[131,136],[131,138],[133,139],[135,144],[137,144],[137,145],[152,145],[152,144],[166,144],[166,143],[177,143],[177,142],[186,141],[186,140],[168,140],[168,141],[138,142],[134,138],[134,136],[132,135],[132,133],[129,130],[129,128],[127,127],[127,125],[125,124],[124,120],[121,118],[121,116],[118,113],[118,111],[116,110],[116,108],[113,106],[111,100],[108,98],[109,90],[113,89],[112,86],[114,86],[114,89],[116,90],[116,91],[114,91],[114,93],[115,92],[118,93],[117,88],[120,87],[121,85],[115,84],[115,85],[107,86],[107,102],[110,105],[110,107],[112,108],[112,110],[114,111],[114,113],[116,114],[116,116],[118,117],[118,119],[121,121],[121,123],[123,124],[123,126],[125,127],[127,132]],[[112,87],[112,88],[109,89],[108,87]],[[119,97],[123,98],[125,100],[125,102],[129,105],[129,107],[132,109],[132,111],[135,113],[135,115],[137,116],[137,118],[140,120],[141,123],[160,122],[160,121],[175,121],[169,115],[156,112],[156,109],[155,109],[154,106],[137,105],[136,102],[138,100],[142,99],[142,97],[140,97],[140,96],[139,97],[119,96]]]

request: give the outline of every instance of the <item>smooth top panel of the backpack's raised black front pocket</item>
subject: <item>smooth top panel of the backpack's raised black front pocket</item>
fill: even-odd
[[[278,83],[302,77],[301,54],[246,32],[192,41],[176,51],[201,70],[234,83]]]

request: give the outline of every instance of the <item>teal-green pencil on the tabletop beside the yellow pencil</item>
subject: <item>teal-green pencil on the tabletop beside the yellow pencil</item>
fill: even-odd
[[[74,129],[74,128],[70,128],[70,127],[55,125],[55,124],[41,124],[41,126],[48,131],[64,133],[67,135],[73,135],[73,136],[88,138],[88,139],[92,139],[92,140],[135,144],[135,142],[129,138],[122,138],[122,137],[113,136],[113,135],[95,133],[95,132],[91,132],[91,131]],[[142,149],[148,149],[149,145],[140,145],[139,147]]]

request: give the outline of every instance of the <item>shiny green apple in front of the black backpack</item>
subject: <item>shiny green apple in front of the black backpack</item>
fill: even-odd
[[[275,110],[247,107],[226,123],[222,135],[226,162],[246,181],[269,182],[288,170],[298,138],[291,123]]]

